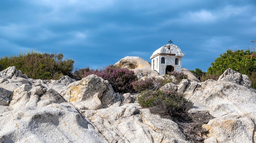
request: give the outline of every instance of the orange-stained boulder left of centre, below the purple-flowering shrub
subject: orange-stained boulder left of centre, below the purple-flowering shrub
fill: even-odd
[[[63,92],[63,98],[78,109],[90,110],[106,108],[120,101],[119,94],[114,92],[108,80],[96,75],[89,75],[82,80],[72,82]]]

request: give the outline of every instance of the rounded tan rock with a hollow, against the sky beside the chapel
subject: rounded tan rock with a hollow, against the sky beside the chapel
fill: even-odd
[[[137,69],[151,67],[151,64],[138,56],[126,56],[115,63],[115,66],[127,69]]]

